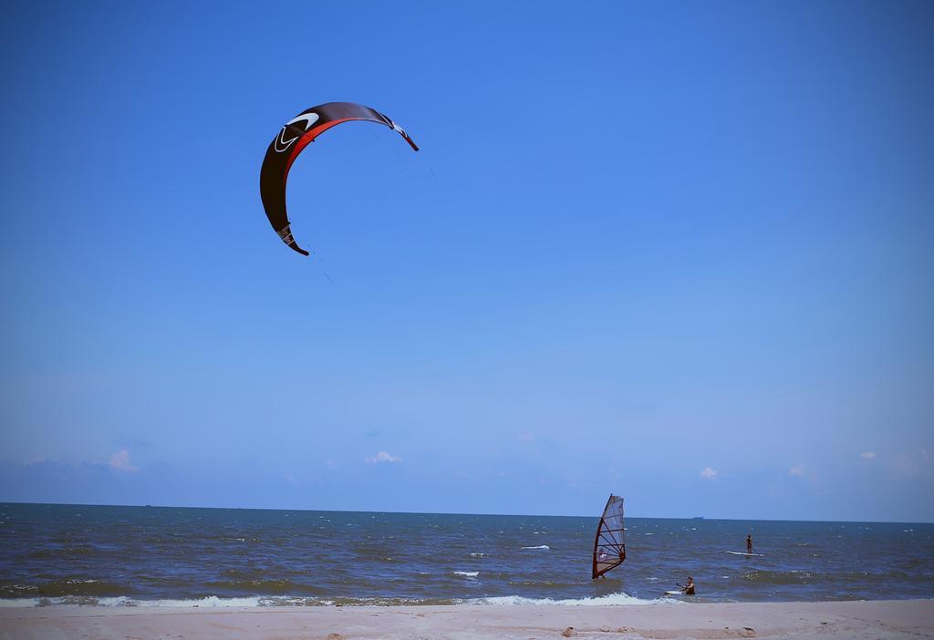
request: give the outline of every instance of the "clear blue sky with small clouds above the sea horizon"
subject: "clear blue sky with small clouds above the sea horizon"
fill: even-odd
[[[0,500],[934,521],[931,5],[569,7],[7,5]]]

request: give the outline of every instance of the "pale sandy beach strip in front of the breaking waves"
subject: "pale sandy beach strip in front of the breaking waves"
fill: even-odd
[[[934,637],[934,600],[715,605],[0,609],[0,638]]]

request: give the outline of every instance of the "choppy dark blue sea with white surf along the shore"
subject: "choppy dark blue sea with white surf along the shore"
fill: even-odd
[[[630,605],[934,598],[934,524],[0,504],[0,606]],[[753,536],[762,557],[744,551]],[[686,577],[695,596],[666,596]]]

